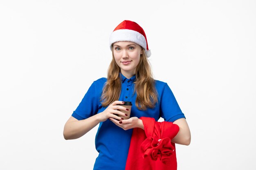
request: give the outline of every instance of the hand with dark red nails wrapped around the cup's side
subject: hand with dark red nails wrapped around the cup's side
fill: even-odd
[[[127,115],[119,110],[123,110],[124,112],[128,110],[126,107],[117,104],[124,104],[124,102],[115,101],[112,104],[110,104],[103,112],[98,113],[97,116],[99,121],[106,121],[108,118],[123,120],[123,118],[119,117],[118,115],[122,115],[124,117],[126,117]]]

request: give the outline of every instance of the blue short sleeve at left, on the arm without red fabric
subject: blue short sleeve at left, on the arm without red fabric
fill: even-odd
[[[98,92],[99,90],[96,89],[95,82],[93,82],[72,117],[83,120],[95,115],[99,108],[100,94]]]

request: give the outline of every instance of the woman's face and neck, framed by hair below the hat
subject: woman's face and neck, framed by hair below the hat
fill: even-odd
[[[141,46],[134,42],[119,41],[113,44],[113,53],[121,73],[126,78],[135,75],[136,67],[142,54]]]

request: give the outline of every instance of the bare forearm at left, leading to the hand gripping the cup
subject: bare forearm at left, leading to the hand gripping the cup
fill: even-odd
[[[84,120],[74,119],[72,121],[67,121],[63,131],[64,138],[67,140],[82,137],[99,124],[99,122],[98,114]]]

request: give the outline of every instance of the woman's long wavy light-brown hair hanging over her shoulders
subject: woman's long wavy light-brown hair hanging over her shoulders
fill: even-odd
[[[135,105],[139,110],[146,110],[147,107],[155,107],[157,103],[157,91],[155,89],[155,80],[152,76],[151,67],[143,48],[142,52],[135,71],[134,91],[137,93]],[[108,67],[108,78],[101,95],[101,104],[104,107],[109,106],[120,97],[121,78],[119,73],[120,67],[117,65],[112,51],[112,61]]]

